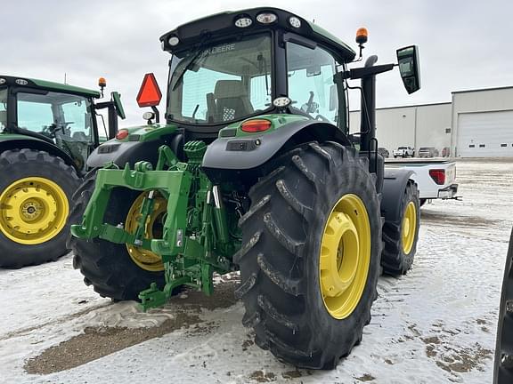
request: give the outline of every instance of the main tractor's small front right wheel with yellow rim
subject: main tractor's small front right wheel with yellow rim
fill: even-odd
[[[410,208],[408,208],[409,206]],[[407,223],[404,218],[409,209],[414,210],[414,222]],[[411,269],[415,252],[417,252],[420,204],[419,190],[417,189],[417,184],[412,180],[409,180],[406,188],[404,188],[401,212],[401,220],[395,222],[385,221],[383,226],[385,249],[381,255],[381,266],[384,273],[392,276],[405,275]],[[405,228],[405,226],[408,226],[408,228]],[[405,230],[411,235],[404,236]]]

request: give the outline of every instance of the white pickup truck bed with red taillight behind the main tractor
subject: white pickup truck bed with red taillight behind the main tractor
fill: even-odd
[[[415,174],[419,188],[420,205],[428,200],[458,198],[456,180],[456,163],[450,159],[385,159],[386,168],[406,168]]]

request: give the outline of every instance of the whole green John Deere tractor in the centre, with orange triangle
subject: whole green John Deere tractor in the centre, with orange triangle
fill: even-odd
[[[375,76],[398,65],[417,91],[417,48],[349,69],[348,45],[276,8],[219,13],[160,41],[171,53],[166,124],[148,112],[150,124],[90,157],[106,165],[74,197],[75,266],[102,296],[144,309],[183,285],[210,295],[214,273],[240,270],[256,344],[335,367],[371,321],[381,268],[402,275],[416,251],[417,187],[411,172],[384,170],[374,127]],[[348,79],[362,81],[353,135]],[[140,104],[158,94],[145,81]]]

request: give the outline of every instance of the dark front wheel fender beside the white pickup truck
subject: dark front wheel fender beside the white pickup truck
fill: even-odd
[[[386,221],[401,221],[402,196],[409,180],[415,182],[416,174],[411,170],[402,168],[385,168],[383,177],[383,200],[381,200],[381,216]]]

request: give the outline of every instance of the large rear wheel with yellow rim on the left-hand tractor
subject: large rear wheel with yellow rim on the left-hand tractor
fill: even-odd
[[[68,213],[79,184],[75,168],[47,152],[0,154],[0,267],[37,265],[68,252]],[[20,201],[20,211],[5,208]]]

